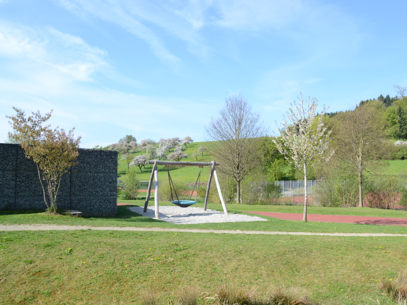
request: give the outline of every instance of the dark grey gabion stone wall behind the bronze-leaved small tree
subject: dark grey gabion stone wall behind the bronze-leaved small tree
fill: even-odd
[[[117,214],[117,152],[80,149],[61,181],[57,206],[85,216]],[[35,163],[18,144],[0,143],[0,210],[46,209]]]

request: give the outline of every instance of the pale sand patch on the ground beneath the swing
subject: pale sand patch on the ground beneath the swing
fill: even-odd
[[[147,208],[147,213],[143,213],[144,207],[132,206],[128,207],[132,212],[138,213],[146,217],[155,217],[154,206]],[[203,207],[179,207],[174,206],[160,206],[159,207],[160,220],[178,223],[178,224],[192,224],[192,223],[209,223],[209,222],[239,222],[239,221],[266,221],[264,218],[257,216],[248,216],[240,214],[224,215],[223,212],[207,209]]]

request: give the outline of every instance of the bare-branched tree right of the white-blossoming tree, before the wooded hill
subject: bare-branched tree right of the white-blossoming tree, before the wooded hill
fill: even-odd
[[[359,207],[363,207],[363,173],[378,165],[390,152],[382,115],[369,103],[335,116],[334,143],[342,168],[357,176]]]

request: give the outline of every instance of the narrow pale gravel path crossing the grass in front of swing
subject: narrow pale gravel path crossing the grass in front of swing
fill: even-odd
[[[0,224],[0,231],[47,231],[47,230],[115,230],[115,231],[154,231],[154,232],[192,232],[192,233],[217,233],[217,234],[264,234],[264,235],[316,235],[316,236],[400,236],[407,234],[389,233],[315,233],[315,232],[277,232],[277,231],[240,231],[240,230],[206,230],[206,229],[177,229],[177,228],[140,228],[140,227],[92,227],[92,226],[67,226],[56,224]]]

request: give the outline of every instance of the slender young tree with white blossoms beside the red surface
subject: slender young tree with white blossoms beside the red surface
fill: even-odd
[[[283,128],[277,125],[281,134],[280,140],[273,139],[277,149],[281,154],[301,173],[304,174],[305,197],[304,197],[304,214],[303,221],[307,221],[307,173],[310,172],[323,159],[331,131],[324,127],[322,118],[325,114],[325,107],[321,113],[316,129],[312,123],[315,120],[315,110],[318,106],[318,100],[308,97],[307,108],[304,108],[304,99],[299,98],[300,103],[290,104],[287,119],[283,116]],[[332,152],[333,154],[333,152]],[[331,155],[332,155],[331,154]],[[327,160],[330,156],[327,158]]]

